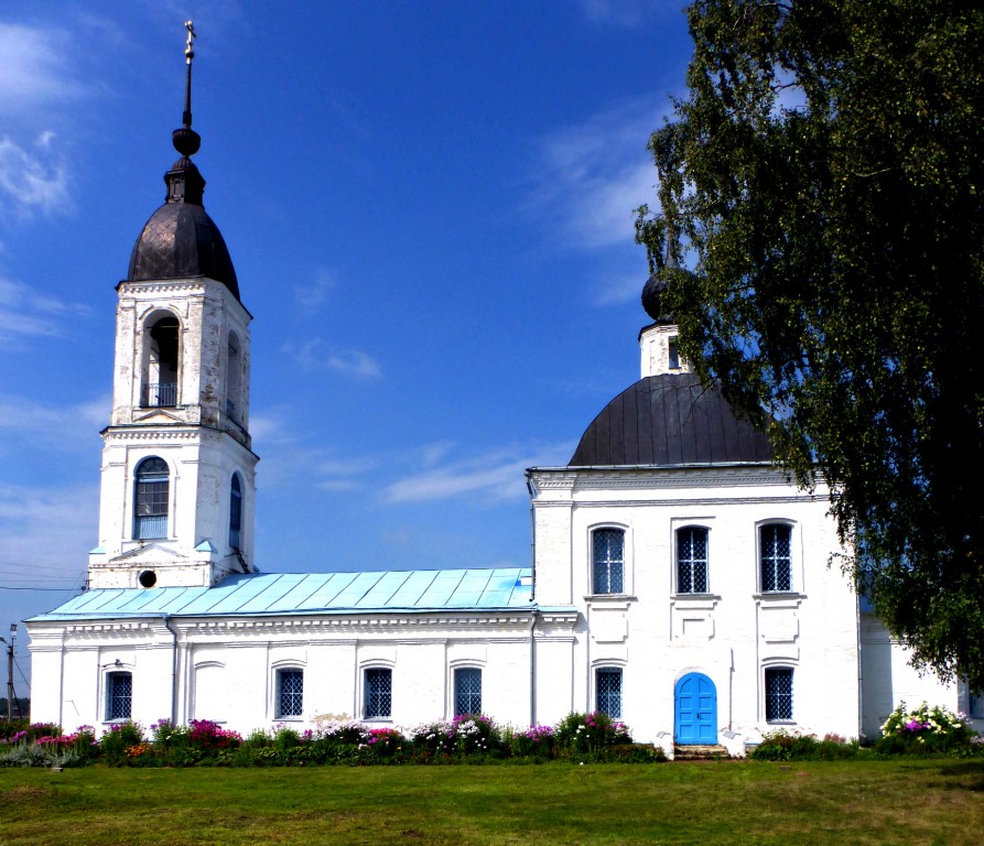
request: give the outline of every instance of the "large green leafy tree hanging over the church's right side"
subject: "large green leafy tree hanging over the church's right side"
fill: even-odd
[[[688,94],[650,140],[661,208],[637,221],[681,351],[798,481],[830,482],[915,663],[984,688],[984,10],[686,13]]]

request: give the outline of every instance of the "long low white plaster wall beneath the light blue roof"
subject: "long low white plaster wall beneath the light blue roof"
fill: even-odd
[[[386,725],[409,727],[451,717],[455,666],[480,666],[483,711],[526,726],[530,719],[530,615],[448,614],[400,618],[303,617],[170,619],[29,625],[33,653],[32,716],[74,728],[106,729],[106,675],[132,673],[132,719],[149,727],[172,717],[172,669],[177,652],[173,718],[216,719],[241,733],[279,723],[313,726],[318,716],[363,717],[363,672],[393,672]],[[570,640],[573,617],[538,630],[538,644]],[[64,652],[60,644],[64,640]],[[550,649],[547,650],[551,654]],[[117,664],[117,661],[119,664]],[[277,714],[277,670],[304,672],[300,719]],[[547,676],[556,668],[544,666]],[[202,675],[199,675],[202,673]],[[61,679],[71,693],[60,698]],[[561,681],[564,677],[560,672]],[[199,685],[204,681],[204,686]],[[563,684],[561,684],[563,686]],[[566,713],[566,711],[564,711]],[[561,714],[560,716],[563,716]]]

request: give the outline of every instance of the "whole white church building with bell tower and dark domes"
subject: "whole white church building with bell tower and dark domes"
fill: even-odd
[[[876,736],[899,699],[984,717],[859,608],[831,564],[826,491],[790,484],[690,372],[655,280],[640,380],[569,465],[527,471],[531,567],[260,572],[252,316],[202,205],[190,101],[174,145],[117,289],[88,589],[28,621],[33,720],[249,731],[601,709],[637,740],[740,753],[779,727]]]

